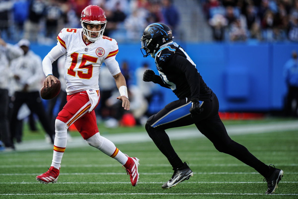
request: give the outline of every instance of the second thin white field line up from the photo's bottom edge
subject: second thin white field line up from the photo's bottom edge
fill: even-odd
[[[131,184],[131,182],[57,182],[58,184]],[[162,184],[164,182],[138,182],[138,184]],[[246,184],[246,183],[265,183],[265,182],[183,182],[188,184]],[[279,183],[298,183],[298,182],[285,182]],[[36,182],[0,182],[0,184],[36,184]]]

